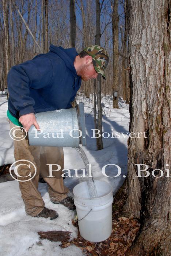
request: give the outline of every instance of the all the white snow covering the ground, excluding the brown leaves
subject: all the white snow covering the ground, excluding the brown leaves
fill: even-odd
[[[122,185],[127,172],[127,140],[129,131],[129,107],[128,104],[119,101],[119,109],[112,108],[112,99],[105,96],[103,100],[103,138],[104,149],[96,151],[96,139],[92,138],[94,129],[94,113],[91,99],[80,95],[79,101],[85,104],[87,146],[83,147],[95,179],[109,182],[113,186],[113,192]],[[9,123],[6,120],[7,100],[6,96],[0,93],[0,166],[13,163],[13,142],[9,137]],[[113,132],[113,137],[111,133]],[[117,135],[115,133],[118,133]],[[126,135],[127,134],[127,135]],[[119,138],[115,138],[119,137]],[[73,169],[84,169],[84,164],[73,148],[64,148],[65,166],[71,170],[72,178],[65,178],[64,183],[70,189],[81,182],[84,178],[77,178]],[[106,177],[102,173],[102,167],[106,167]],[[118,165],[122,172],[116,178],[111,178],[118,173]],[[123,177],[124,176],[124,177]],[[69,246],[61,249],[60,242],[50,242],[41,240],[39,242],[38,231],[62,230],[72,231],[72,237],[77,236],[77,229],[72,225],[73,212],[62,205],[52,204],[49,200],[47,187],[44,183],[39,183],[39,190],[42,194],[45,206],[55,209],[59,217],[55,220],[33,218],[27,216],[24,211],[24,204],[20,196],[17,181],[0,183],[0,255],[83,255],[76,246]]]

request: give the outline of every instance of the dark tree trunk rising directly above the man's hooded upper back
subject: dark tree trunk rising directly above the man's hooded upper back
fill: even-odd
[[[75,15],[75,0],[70,0],[70,47],[75,47],[76,41],[76,15]]]

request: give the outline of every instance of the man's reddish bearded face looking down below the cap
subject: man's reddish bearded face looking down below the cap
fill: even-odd
[[[96,78],[98,73],[95,71],[94,66],[92,63],[90,64],[83,64],[79,69],[79,76],[83,79],[83,81],[88,81],[91,78]]]

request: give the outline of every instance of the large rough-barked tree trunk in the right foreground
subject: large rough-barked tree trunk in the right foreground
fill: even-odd
[[[132,69],[129,130],[146,133],[129,138],[124,213],[141,223],[131,255],[167,256],[171,192],[166,171],[171,166],[170,7],[168,0],[129,0],[127,4]],[[146,164],[149,176],[140,177],[136,164]],[[147,166],[141,166],[141,170]],[[141,175],[145,176],[146,171]]]

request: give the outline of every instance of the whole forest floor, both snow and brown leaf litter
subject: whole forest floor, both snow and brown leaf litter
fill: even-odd
[[[103,101],[103,145],[104,149],[96,151],[96,139],[93,137],[94,113],[91,99],[83,95],[77,96],[77,103],[84,102],[87,146],[83,149],[91,164],[94,179],[106,181],[113,187],[113,193],[122,186],[127,174],[127,140],[129,138],[129,105],[119,100],[119,109],[112,108],[111,96],[105,96]],[[58,212],[55,220],[33,218],[27,216],[21,198],[18,182],[9,175],[9,166],[14,160],[13,142],[9,136],[9,123],[6,119],[7,100],[0,94],[0,253],[3,256],[12,255],[125,255],[135,234],[139,229],[136,220],[129,220],[124,216],[115,218],[113,213],[113,230],[111,237],[101,243],[91,243],[80,237],[75,213],[63,205],[52,204],[47,193],[46,183],[39,183],[39,191],[42,194],[45,206]],[[109,133],[109,136],[108,134]],[[113,135],[111,134],[113,133]],[[117,134],[115,134],[117,133]],[[65,166],[71,170],[72,178],[65,178],[64,184],[71,190],[74,186],[84,181],[77,178],[73,169],[84,169],[84,164],[73,148],[64,148]],[[106,167],[106,176],[102,173],[102,167]],[[117,175],[118,165],[122,172]],[[110,176],[110,177],[108,177]],[[122,204],[122,200],[121,200]],[[56,237],[61,239],[51,241],[41,239],[40,233],[47,231],[61,231]],[[65,232],[65,233],[64,233]],[[70,233],[71,232],[71,233]],[[46,235],[46,234],[45,234]],[[69,238],[68,238],[69,235]],[[65,238],[66,236],[66,238]],[[53,238],[55,235],[53,234]],[[48,238],[48,233],[47,233]]]

